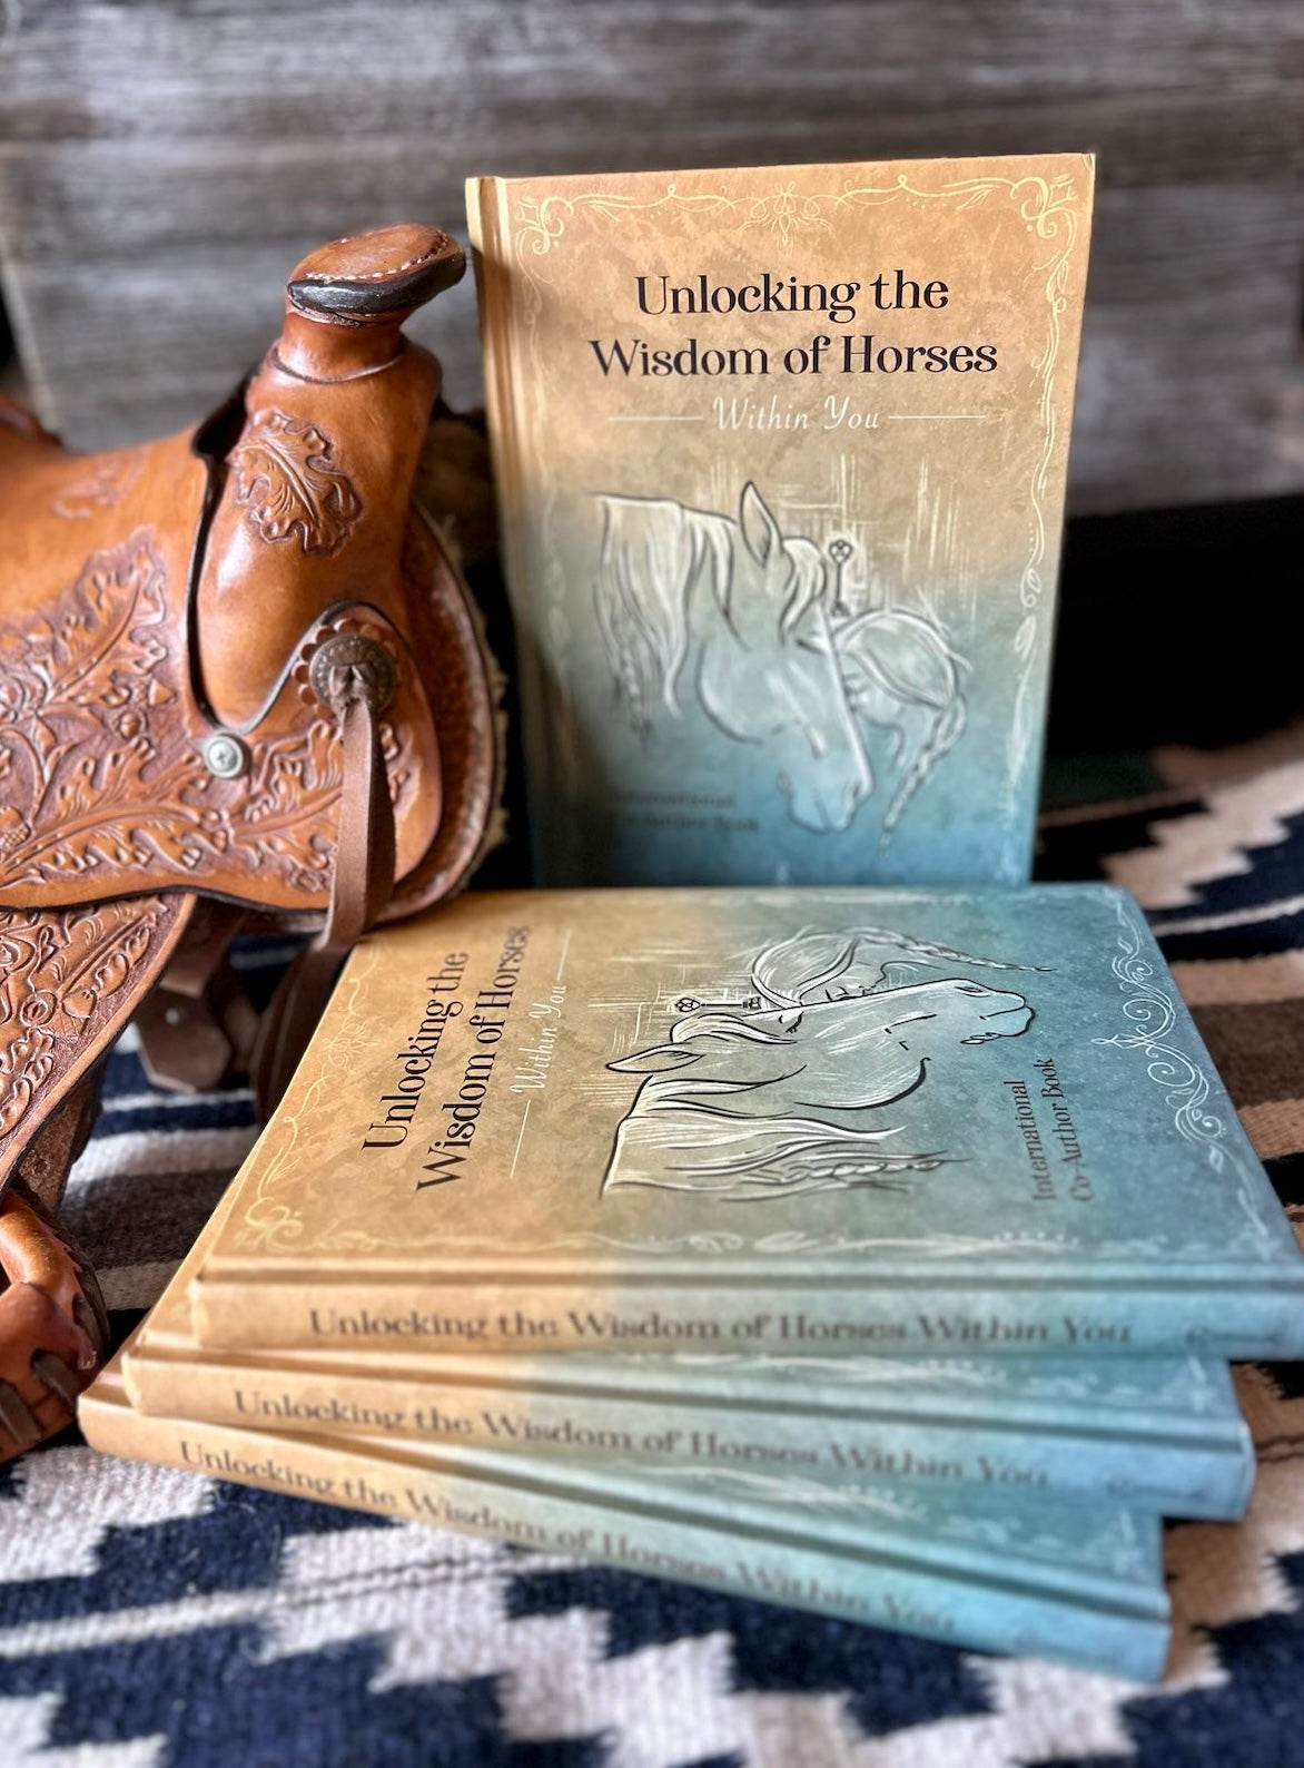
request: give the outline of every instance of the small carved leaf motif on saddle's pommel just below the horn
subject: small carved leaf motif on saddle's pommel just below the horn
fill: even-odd
[[[330,559],[362,514],[336,446],[318,424],[288,412],[254,412],[231,456],[235,500],[269,543],[293,541]]]

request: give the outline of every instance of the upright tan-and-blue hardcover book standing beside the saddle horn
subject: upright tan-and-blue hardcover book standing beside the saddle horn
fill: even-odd
[[[1027,879],[1092,173],[468,184],[539,882]]]

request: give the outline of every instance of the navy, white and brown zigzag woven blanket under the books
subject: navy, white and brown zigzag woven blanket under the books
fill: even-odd
[[[1154,790],[1044,819],[1042,877],[1134,889],[1304,1225],[1304,730],[1161,751]],[[256,962],[276,962],[263,951]],[[251,960],[253,962],[253,960]],[[127,1045],[74,1177],[125,1328],[253,1139]],[[1285,1768],[1304,1734],[1304,1365],[1246,1368],[1246,1522],[1168,1533],[1159,1688],[94,1455],[0,1473],[5,1768]]]

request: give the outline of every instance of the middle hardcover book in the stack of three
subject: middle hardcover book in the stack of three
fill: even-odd
[[[1202,1358],[332,1356],[205,1351],[187,1285],[219,1204],[122,1358],[131,1404],[256,1430],[408,1437],[580,1460],[933,1480],[1078,1494],[1170,1517],[1244,1513],[1255,1450],[1224,1363]]]

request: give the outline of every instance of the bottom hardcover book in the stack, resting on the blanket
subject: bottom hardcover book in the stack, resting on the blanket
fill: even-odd
[[[1057,1526],[1041,1506],[963,1515],[922,1487],[871,1503],[792,1483],[776,1503],[756,1482],[147,1418],[117,1363],[81,1395],[80,1421],[110,1455],[951,1644],[1138,1681],[1168,1650],[1159,1524],[1129,1512],[1071,1505]]]

